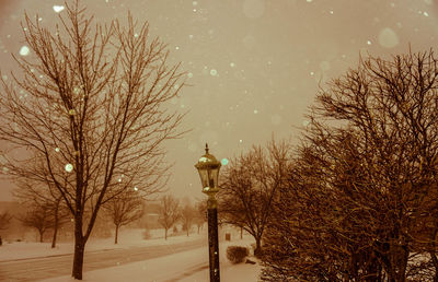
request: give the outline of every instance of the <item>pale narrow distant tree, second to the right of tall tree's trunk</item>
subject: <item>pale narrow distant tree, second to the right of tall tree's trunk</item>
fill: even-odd
[[[168,231],[180,219],[180,202],[171,195],[165,195],[160,200],[158,222],[164,227],[164,239],[168,239]]]

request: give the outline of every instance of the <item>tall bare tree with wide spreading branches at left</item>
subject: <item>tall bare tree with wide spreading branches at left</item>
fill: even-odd
[[[33,155],[10,155],[24,148],[44,157],[74,220],[72,277],[81,280],[97,213],[126,189],[117,185],[122,175],[139,189],[162,176],[151,171],[161,171],[163,141],[181,136],[183,115],[166,105],[184,73],[169,64],[166,45],[149,38],[148,24],[130,15],[127,27],[118,20],[94,25],[78,0],[66,4],[54,30],[38,16],[26,15],[23,25],[31,54],[15,58],[21,73],[1,75],[0,140],[11,144],[5,166],[25,175]]]

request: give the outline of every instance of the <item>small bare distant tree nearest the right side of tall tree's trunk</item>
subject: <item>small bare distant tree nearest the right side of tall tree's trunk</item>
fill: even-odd
[[[140,219],[145,212],[145,201],[139,195],[138,188],[125,190],[105,203],[103,208],[115,225],[114,244],[118,243],[118,230]]]

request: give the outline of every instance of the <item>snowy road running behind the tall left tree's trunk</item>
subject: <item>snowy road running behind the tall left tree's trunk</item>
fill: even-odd
[[[131,247],[87,252],[83,271],[148,260],[204,246],[205,239],[172,245]],[[37,281],[71,274],[73,255],[0,262],[0,281]]]

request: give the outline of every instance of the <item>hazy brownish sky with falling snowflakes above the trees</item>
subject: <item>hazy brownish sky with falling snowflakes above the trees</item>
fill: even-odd
[[[297,140],[318,84],[356,68],[359,54],[435,48],[435,0],[84,0],[99,22],[149,21],[151,33],[169,43],[192,86],[174,105],[188,110],[183,139],[166,143],[174,162],[169,183],[176,196],[203,198],[194,164],[205,142],[218,160],[253,144]],[[24,10],[53,25],[60,0],[0,0],[0,69],[13,70],[11,54],[24,45]],[[32,55],[31,55],[32,56]],[[0,200],[11,200],[0,184]]]

